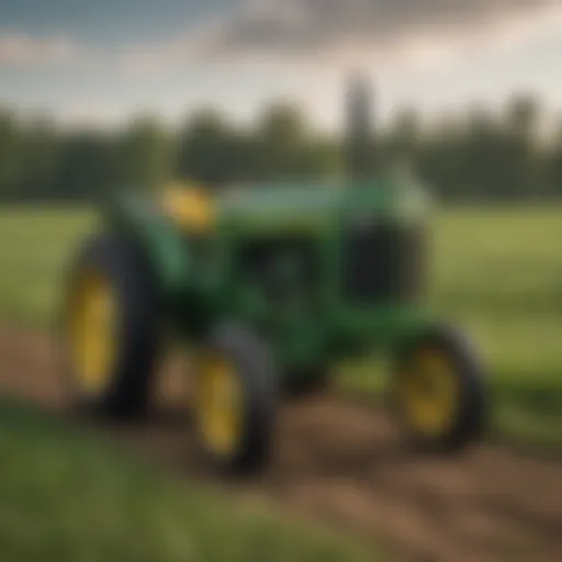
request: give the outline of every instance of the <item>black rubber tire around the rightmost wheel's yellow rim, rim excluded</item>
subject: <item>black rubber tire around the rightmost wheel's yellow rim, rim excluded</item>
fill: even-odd
[[[415,431],[405,422],[396,400],[396,385],[391,383],[390,405],[396,414],[409,445],[427,452],[456,452],[482,439],[487,422],[486,389],[480,361],[468,339],[450,326],[439,325],[408,341],[397,355],[392,381],[397,381],[415,353],[423,347],[439,348],[454,366],[459,379],[459,395],[453,419],[442,435],[427,437]]]

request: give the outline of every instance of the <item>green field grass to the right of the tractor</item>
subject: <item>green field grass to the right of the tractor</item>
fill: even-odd
[[[562,446],[562,209],[449,213],[435,299],[491,368],[497,430]]]

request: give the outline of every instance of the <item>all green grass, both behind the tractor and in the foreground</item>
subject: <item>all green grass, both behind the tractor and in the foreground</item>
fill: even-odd
[[[65,261],[94,222],[83,210],[0,212],[0,325],[48,329]],[[495,435],[562,449],[562,207],[437,216],[430,299],[483,353]],[[376,398],[376,369],[341,366],[338,384]],[[0,552],[14,562],[374,559],[355,539],[241,508],[5,401],[0,456]]]

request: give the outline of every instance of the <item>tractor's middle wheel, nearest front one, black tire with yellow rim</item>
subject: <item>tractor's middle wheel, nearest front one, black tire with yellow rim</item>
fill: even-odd
[[[195,384],[195,422],[205,456],[222,472],[244,475],[269,458],[277,376],[268,347],[238,325],[209,336]]]

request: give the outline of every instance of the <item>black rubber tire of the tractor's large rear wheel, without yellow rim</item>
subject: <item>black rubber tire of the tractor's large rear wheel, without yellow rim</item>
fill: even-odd
[[[87,269],[100,271],[116,294],[120,323],[117,358],[106,389],[86,394],[77,383],[66,346],[61,341],[63,373],[72,405],[80,412],[127,419],[143,416],[149,406],[153,373],[159,356],[159,305],[149,269],[137,249],[114,234],[86,240],[75,256],[63,299],[63,330],[68,322],[72,288]]]

